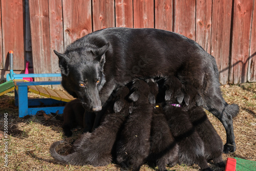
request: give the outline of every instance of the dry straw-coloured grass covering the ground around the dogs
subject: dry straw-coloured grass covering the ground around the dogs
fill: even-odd
[[[222,86],[225,100],[228,103],[237,103],[240,106],[238,117],[233,119],[234,134],[236,136],[237,151],[233,154],[223,154],[227,157],[239,157],[256,161],[256,83],[243,83],[240,85]],[[30,97],[37,97],[29,94]],[[50,156],[49,147],[57,140],[65,139],[69,143],[62,144],[69,152],[70,143],[80,134],[77,130],[75,135],[67,138],[62,135],[61,122],[44,117],[18,118],[18,109],[14,106],[14,93],[0,96],[0,130],[4,131],[4,113],[8,113],[8,167],[4,166],[5,138],[0,138],[0,170],[121,170],[114,164],[104,167],[59,165]],[[223,139],[225,130],[220,121],[207,113],[211,123]],[[222,170],[218,167],[212,168]],[[168,170],[198,170],[198,166],[176,165]],[[141,170],[155,170],[143,165]]]

